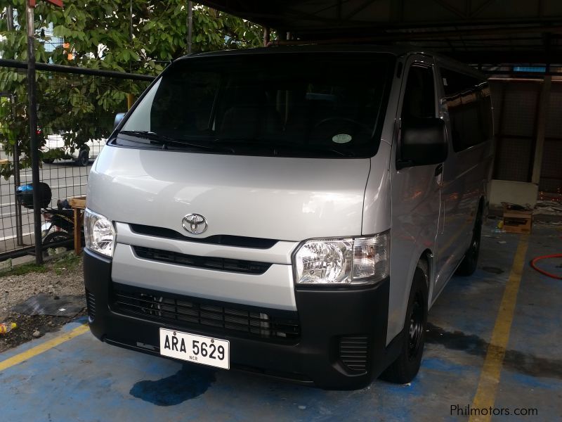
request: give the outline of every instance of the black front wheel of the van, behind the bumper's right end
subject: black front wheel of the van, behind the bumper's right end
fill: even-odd
[[[426,326],[426,276],[421,268],[417,268],[410,289],[400,354],[382,373],[382,379],[391,383],[407,384],[416,377],[421,365],[421,356],[424,354]]]

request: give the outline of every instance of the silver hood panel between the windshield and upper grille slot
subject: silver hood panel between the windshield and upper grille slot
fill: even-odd
[[[275,158],[106,146],[87,206],[115,221],[214,235],[301,241],[361,234],[370,159]],[[183,217],[207,219],[193,235]]]

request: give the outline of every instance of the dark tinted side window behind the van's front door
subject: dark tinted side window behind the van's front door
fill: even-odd
[[[453,149],[463,151],[492,136],[492,102],[488,82],[441,69]]]

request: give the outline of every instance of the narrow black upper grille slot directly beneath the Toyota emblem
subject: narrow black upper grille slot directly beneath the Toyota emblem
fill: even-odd
[[[215,234],[206,238],[190,238],[178,231],[166,229],[164,227],[145,226],[144,224],[129,224],[131,230],[138,234],[147,236],[157,236],[179,241],[195,243],[211,243],[213,245],[237,246],[239,248],[269,249],[277,241],[275,239],[251,238],[247,236],[232,236],[228,234]]]

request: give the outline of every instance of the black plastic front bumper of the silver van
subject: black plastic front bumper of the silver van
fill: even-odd
[[[362,388],[379,376],[393,359],[386,346],[389,279],[374,288],[296,290],[301,335],[295,344],[216,335],[204,328],[183,328],[113,312],[111,261],[84,250],[84,281],[93,302],[90,328],[107,343],[159,354],[159,328],[211,335],[230,341],[230,367],[322,388]],[[92,310],[92,309],[91,309]],[[342,363],[342,336],[364,335],[367,369],[352,371]]]

